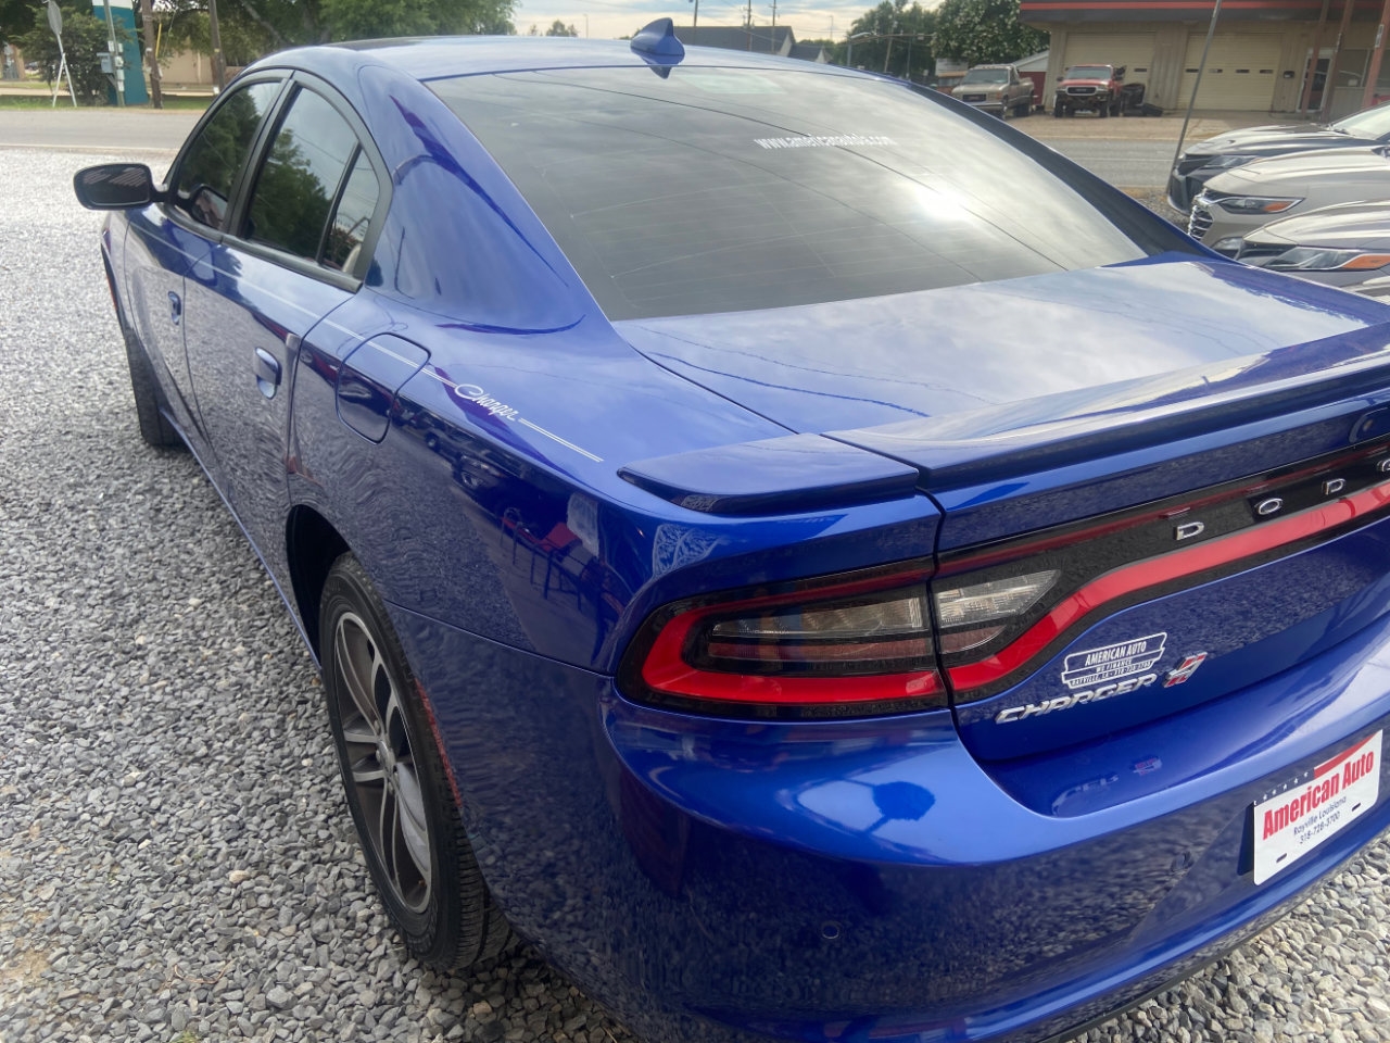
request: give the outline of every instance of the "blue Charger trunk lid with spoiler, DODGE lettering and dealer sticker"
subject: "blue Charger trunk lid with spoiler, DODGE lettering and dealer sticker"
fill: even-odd
[[[1190,261],[913,296],[628,332],[778,423],[917,470],[977,757],[1230,694],[1383,613],[1390,312]]]

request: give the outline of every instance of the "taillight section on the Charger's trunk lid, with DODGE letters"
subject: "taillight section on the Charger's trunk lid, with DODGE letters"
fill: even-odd
[[[1102,617],[1390,513],[1386,444],[941,555],[937,656],[955,704],[1017,684]]]

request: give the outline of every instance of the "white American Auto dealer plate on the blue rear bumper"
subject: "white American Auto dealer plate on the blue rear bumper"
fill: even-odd
[[[1366,736],[1314,768],[1309,782],[1255,805],[1255,883],[1293,865],[1375,807],[1383,734]]]

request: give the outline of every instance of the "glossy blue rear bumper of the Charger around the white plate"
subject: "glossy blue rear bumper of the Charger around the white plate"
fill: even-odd
[[[392,615],[498,903],[653,1040],[1044,1039],[1238,943],[1390,823],[1382,775],[1368,814],[1252,882],[1252,805],[1390,723],[1383,620],[1225,700],[991,766],[945,711],[685,716]],[[1262,712],[1280,727],[1184,761]]]

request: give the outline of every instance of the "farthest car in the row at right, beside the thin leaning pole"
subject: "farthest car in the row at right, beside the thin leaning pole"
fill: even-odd
[[[1316,124],[1279,124],[1250,127],[1219,134],[1187,149],[1168,178],[1168,203],[1187,213],[1202,185],[1222,171],[1243,167],[1270,156],[1325,149],[1355,149],[1390,145],[1390,104],[1319,127]]]

